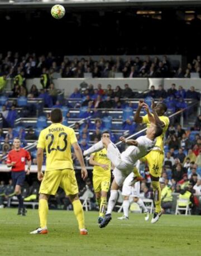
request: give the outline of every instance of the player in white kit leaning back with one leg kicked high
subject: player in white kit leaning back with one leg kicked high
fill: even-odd
[[[145,104],[145,106],[147,105]],[[123,143],[130,145],[125,151],[120,153],[117,146],[114,145],[110,139],[103,138],[83,153],[85,156],[92,154],[95,151],[99,151],[104,147],[107,149],[107,157],[115,167],[113,170],[114,179],[111,186],[111,196],[108,201],[107,214],[100,223],[100,228],[107,226],[109,221],[112,220],[111,214],[117,201],[117,190],[122,186],[128,174],[133,172],[133,168],[135,167],[137,160],[145,157],[145,155],[154,148],[156,138],[162,134],[162,127],[157,124],[155,118],[152,117],[149,108],[145,108],[145,110],[147,111],[148,117],[150,117],[151,125],[147,129],[146,135],[140,136],[136,140],[126,140],[124,137],[121,137],[120,140]],[[139,177],[140,174],[137,174],[134,183],[140,180]]]

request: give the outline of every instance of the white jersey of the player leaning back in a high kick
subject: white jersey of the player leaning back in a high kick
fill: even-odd
[[[130,165],[135,165],[138,159],[145,157],[156,143],[156,139],[153,141],[148,139],[147,136],[140,136],[136,141],[137,146],[128,146],[121,154],[122,160]]]

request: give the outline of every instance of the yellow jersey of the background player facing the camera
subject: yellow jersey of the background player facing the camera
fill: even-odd
[[[111,177],[111,160],[107,158],[107,150],[102,149],[98,152],[95,152],[92,154],[94,156],[94,161],[99,163],[99,164],[108,164],[109,169],[104,170],[102,167],[94,165],[93,168],[93,174],[96,176],[101,176],[101,177]]]

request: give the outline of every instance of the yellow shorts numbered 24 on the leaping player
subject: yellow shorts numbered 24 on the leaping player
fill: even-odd
[[[143,162],[149,165],[150,174],[154,177],[161,177],[162,166],[164,163],[164,153],[159,150],[151,150],[149,154],[141,158]]]

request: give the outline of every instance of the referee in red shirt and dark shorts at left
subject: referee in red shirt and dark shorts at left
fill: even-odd
[[[26,209],[23,206],[23,197],[21,187],[25,181],[26,174],[30,173],[31,155],[27,150],[20,148],[21,141],[19,138],[13,140],[14,148],[9,151],[7,157],[7,166],[11,167],[11,177],[13,186],[15,187],[15,194],[19,201],[18,215],[26,216]],[[26,160],[28,161],[28,168],[25,170]]]

